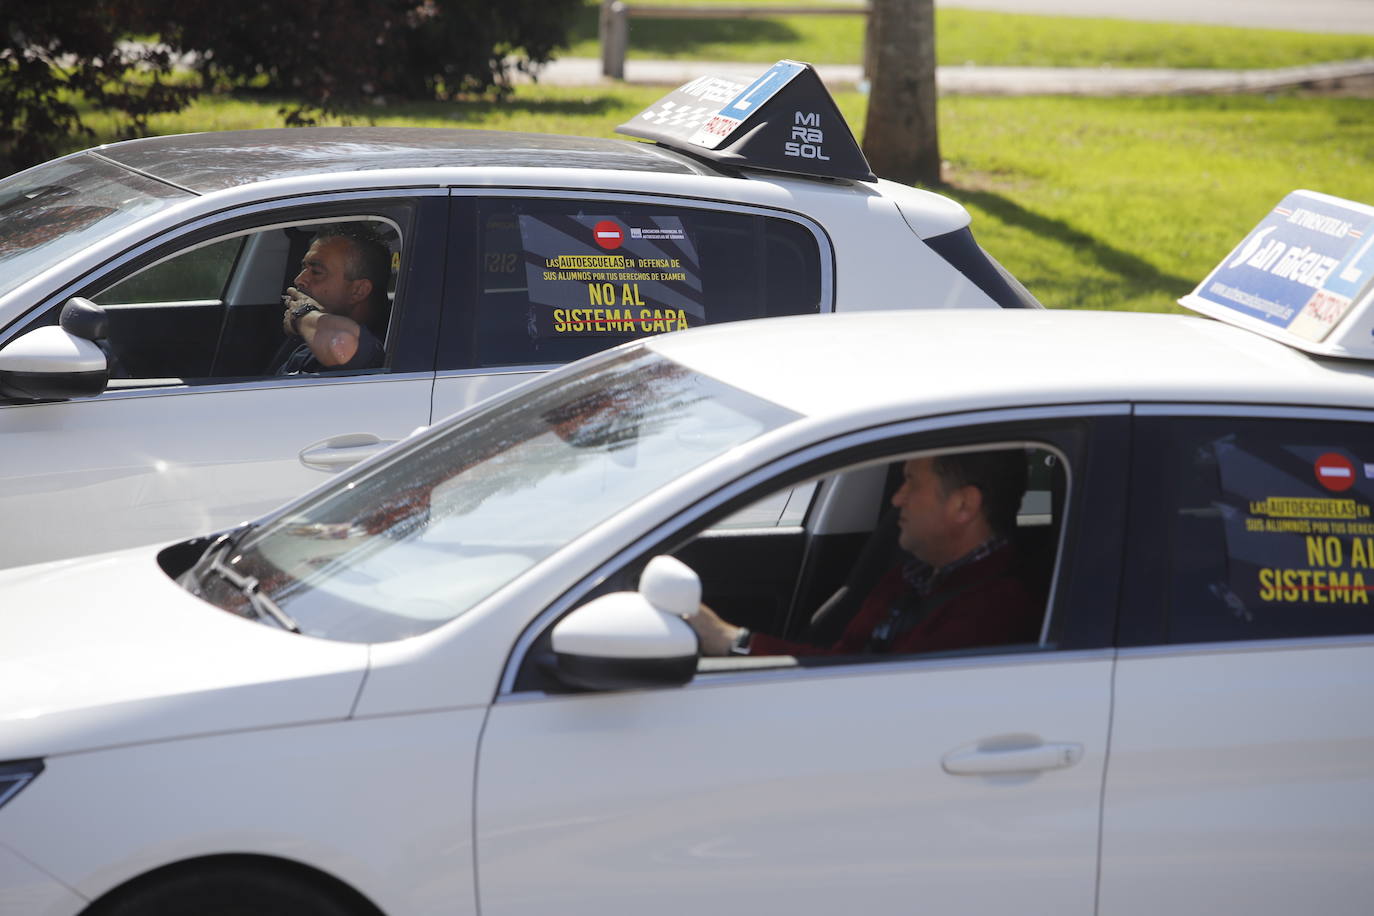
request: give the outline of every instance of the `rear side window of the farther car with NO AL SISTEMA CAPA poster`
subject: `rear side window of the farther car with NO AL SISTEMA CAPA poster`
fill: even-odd
[[[566,363],[701,324],[818,312],[820,247],[780,217],[668,205],[484,201],[475,360]]]

